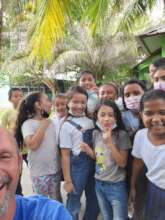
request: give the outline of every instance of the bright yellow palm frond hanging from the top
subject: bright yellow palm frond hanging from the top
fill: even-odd
[[[42,62],[52,59],[55,43],[63,38],[68,1],[42,0],[36,15],[37,25],[30,45],[31,58]]]

